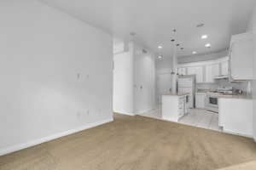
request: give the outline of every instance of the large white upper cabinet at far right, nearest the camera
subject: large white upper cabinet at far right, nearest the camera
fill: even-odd
[[[253,80],[253,34],[232,36],[230,42],[231,81]]]

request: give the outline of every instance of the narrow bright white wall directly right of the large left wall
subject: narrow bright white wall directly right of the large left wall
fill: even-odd
[[[113,111],[131,116],[134,115],[133,56],[133,43],[129,44],[127,52],[113,55]]]

